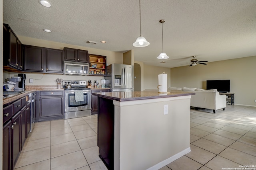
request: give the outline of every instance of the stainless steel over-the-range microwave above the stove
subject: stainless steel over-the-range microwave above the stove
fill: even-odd
[[[64,74],[87,76],[88,72],[88,63],[64,61]]]

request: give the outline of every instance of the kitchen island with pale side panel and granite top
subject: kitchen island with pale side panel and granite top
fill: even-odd
[[[190,98],[172,90],[98,96],[99,156],[109,170],[158,170],[190,152]]]

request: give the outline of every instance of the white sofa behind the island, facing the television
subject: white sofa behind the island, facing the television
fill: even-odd
[[[225,110],[226,108],[226,95],[220,95],[216,89],[204,90],[200,88],[170,87],[169,90],[193,91],[196,95],[191,96],[190,106],[192,107],[212,109],[213,113],[218,109]]]

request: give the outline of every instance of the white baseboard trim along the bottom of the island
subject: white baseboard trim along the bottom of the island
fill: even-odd
[[[184,156],[185,154],[191,152],[190,147],[188,147],[187,149],[182,150],[181,152],[171,156],[170,158],[167,158],[166,160],[163,160],[162,162],[159,162],[158,164],[155,164],[154,166],[151,166],[150,168],[148,168],[147,170],[159,170],[160,168],[170,164],[171,162],[173,162],[174,160],[180,158],[181,156]]]

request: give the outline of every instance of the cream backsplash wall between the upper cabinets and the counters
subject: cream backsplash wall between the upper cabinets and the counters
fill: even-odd
[[[26,86],[57,86],[56,78],[62,78],[63,80],[98,80],[100,82],[101,79],[104,79],[103,76],[70,76],[63,74],[33,74],[33,73],[25,73],[26,74]],[[4,71],[3,82],[6,82],[6,79],[11,78],[12,76],[18,76],[16,72],[7,72]],[[33,83],[29,83],[29,79],[33,79]]]

